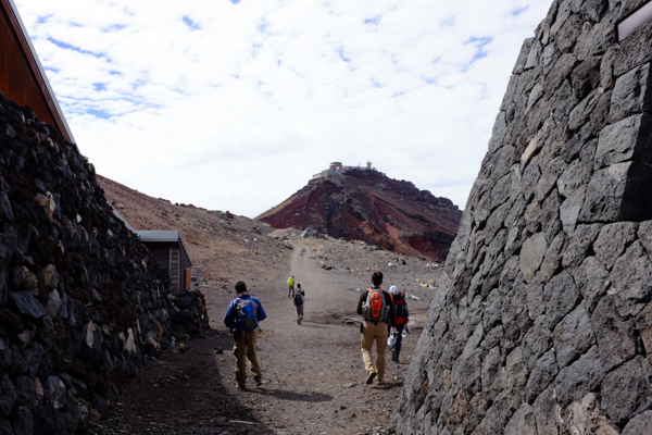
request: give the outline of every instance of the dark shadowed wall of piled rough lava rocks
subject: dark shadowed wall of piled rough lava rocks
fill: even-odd
[[[74,145],[0,94],[0,434],[84,431],[145,353],[200,333]]]

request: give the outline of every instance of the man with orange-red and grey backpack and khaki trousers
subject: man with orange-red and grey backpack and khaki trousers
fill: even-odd
[[[380,288],[383,284],[383,272],[374,272],[372,275],[372,288],[363,291],[358,301],[358,314],[363,315],[362,322],[362,360],[367,371],[367,385],[374,382],[378,385],[385,384],[385,351],[387,350],[387,336],[389,325],[394,323],[393,304],[387,291]],[[376,365],[372,358],[372,347],[376,341]]]

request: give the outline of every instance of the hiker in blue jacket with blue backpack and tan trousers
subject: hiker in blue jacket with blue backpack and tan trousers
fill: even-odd
[[[247,388],[247,368],[244,357],[249,360],[249,370],[255,385],[263,383],[263,372],[255,355],[255,338],[258,323],[265,320],[267,314],[260,300],[249,295],[247,285],[236,283],[238,297],[234,299],[224,315],[224,324],[234,334],[234,356],[236,357],[236,388],[244,391]]]

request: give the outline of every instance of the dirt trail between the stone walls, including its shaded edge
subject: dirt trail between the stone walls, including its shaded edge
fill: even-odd
[[[287,276],[305,289],[305,316],[297,324]],[[267,319],[258,355],[263,385],[251,374],[235,388],[233,338],[222,320],[235,293],[204,288],[212,331],[186,344],[186,355],[163,353],[128,383],[117,409],[90,433],[116,434],[378,434],[389,423],[408,361],[418,338],[403,341],[404,363],[387,358],[388,385],[365,385],[358,319],[360,294],[371,276],[333,274],[296,243],[290,270],[273,281],[242,277]],[[389,284],[388,284],[389,285]],[[417,311],[417,310],[415,310]],[[421,310],[423,311],[423,309]],[[418,314],[418,312],[414,312]],[[222,353],[214,349],[222,348]]]

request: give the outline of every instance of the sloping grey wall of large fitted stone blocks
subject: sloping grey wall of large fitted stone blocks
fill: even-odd
[[[555,0],[496,120],[392,428],[652,433],[652,23]]]

